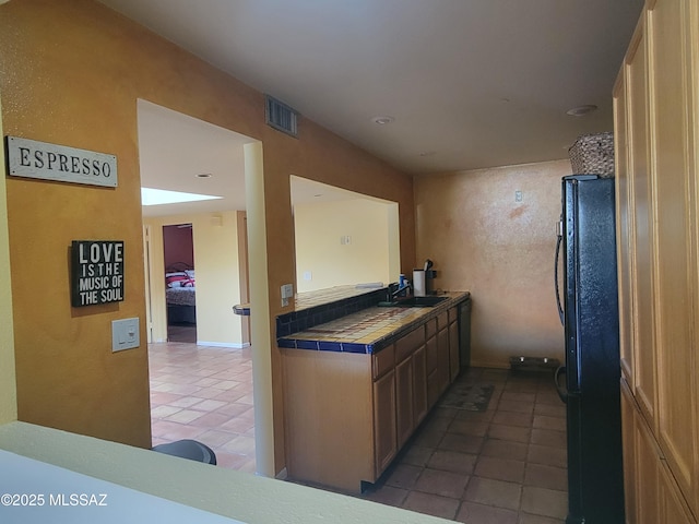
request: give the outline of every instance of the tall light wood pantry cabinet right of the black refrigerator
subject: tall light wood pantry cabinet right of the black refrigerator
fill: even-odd
[[[696,523],[699,2],[647,2],[614,102],[627,522]]]

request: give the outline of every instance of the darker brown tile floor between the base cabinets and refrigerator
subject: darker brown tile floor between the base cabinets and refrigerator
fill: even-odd
[[[567,513],[566,412],[550,373],[472,368],[486,412],[439,407],[382,478],[377,502],[473,524],[560,524]]]

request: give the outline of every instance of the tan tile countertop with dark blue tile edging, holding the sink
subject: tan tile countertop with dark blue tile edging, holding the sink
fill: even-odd
[[[377,353],[415,326],[470,298],[467,291],[449,291],[434,307],[372,306],[330,322],[277,338],[280,347],[321,352]]]

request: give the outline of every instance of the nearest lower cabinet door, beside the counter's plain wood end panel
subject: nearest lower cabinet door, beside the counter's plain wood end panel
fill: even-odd
[[[395,456],[396,434],[395,372],[391,370],[374,382],[374,452],[377,478]]]

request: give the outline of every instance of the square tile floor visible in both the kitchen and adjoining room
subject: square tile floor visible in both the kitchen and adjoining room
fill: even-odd
[[[154,444],[197,439],[222,467],[254,472],[250,348],[149,348]],[[437,407],[363,498],[472,524],[560,524],[566,414],[548,373],[472,368],[495,385],[483,413]]]

